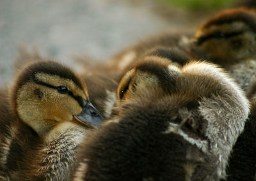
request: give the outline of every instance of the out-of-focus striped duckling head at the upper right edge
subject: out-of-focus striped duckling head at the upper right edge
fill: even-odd
[[[246,8],[221,11],[200,27],[194,43],[222,66],[256,57],[256,12]]]

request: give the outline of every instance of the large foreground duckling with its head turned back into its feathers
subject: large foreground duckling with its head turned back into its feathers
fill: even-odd
[[[220,180],[244,129],[243,91],[214,64],[156,57],[118,85],[119,114],[84,141],[72,180]]]

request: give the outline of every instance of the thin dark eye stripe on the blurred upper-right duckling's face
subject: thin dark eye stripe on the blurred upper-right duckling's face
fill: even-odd
[[[204,41],[207,41],[212,38],[217,38],[217,39],[230,38],[232,36],[237,36],[237,35],[243,34],[243,33],[244,33],[244,31],[237,31],[237,32],[230,32],[230,33],[214,32],[212,34],[207,34],[205,36],[198,38],[198,40],[196,41],[196,44],[201,45],[202,43],[204,43]]]

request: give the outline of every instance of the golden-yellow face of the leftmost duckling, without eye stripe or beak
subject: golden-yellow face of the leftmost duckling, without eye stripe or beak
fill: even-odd
[[[57,75],[37,73],[35,78],[42,83],[31,80],[18,90],[17,113],[37,133],[58,122],[71,121],[74,115],[81,113],[82,106],[77,98],[88,100],[84,89],[77,87],[72,80]],[[55,88],[59,86],[66,87],[67,93],[60,93]]]

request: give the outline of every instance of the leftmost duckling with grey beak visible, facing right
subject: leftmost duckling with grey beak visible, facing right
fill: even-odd
[[[11,113],[12,119],[1,116],[1,122],[10,124],[1,135],[3,177],[67,180],[77,147],[102,121],[86,85],[57,62],[33,62],[17,76],[8,105],[6,115]]]

